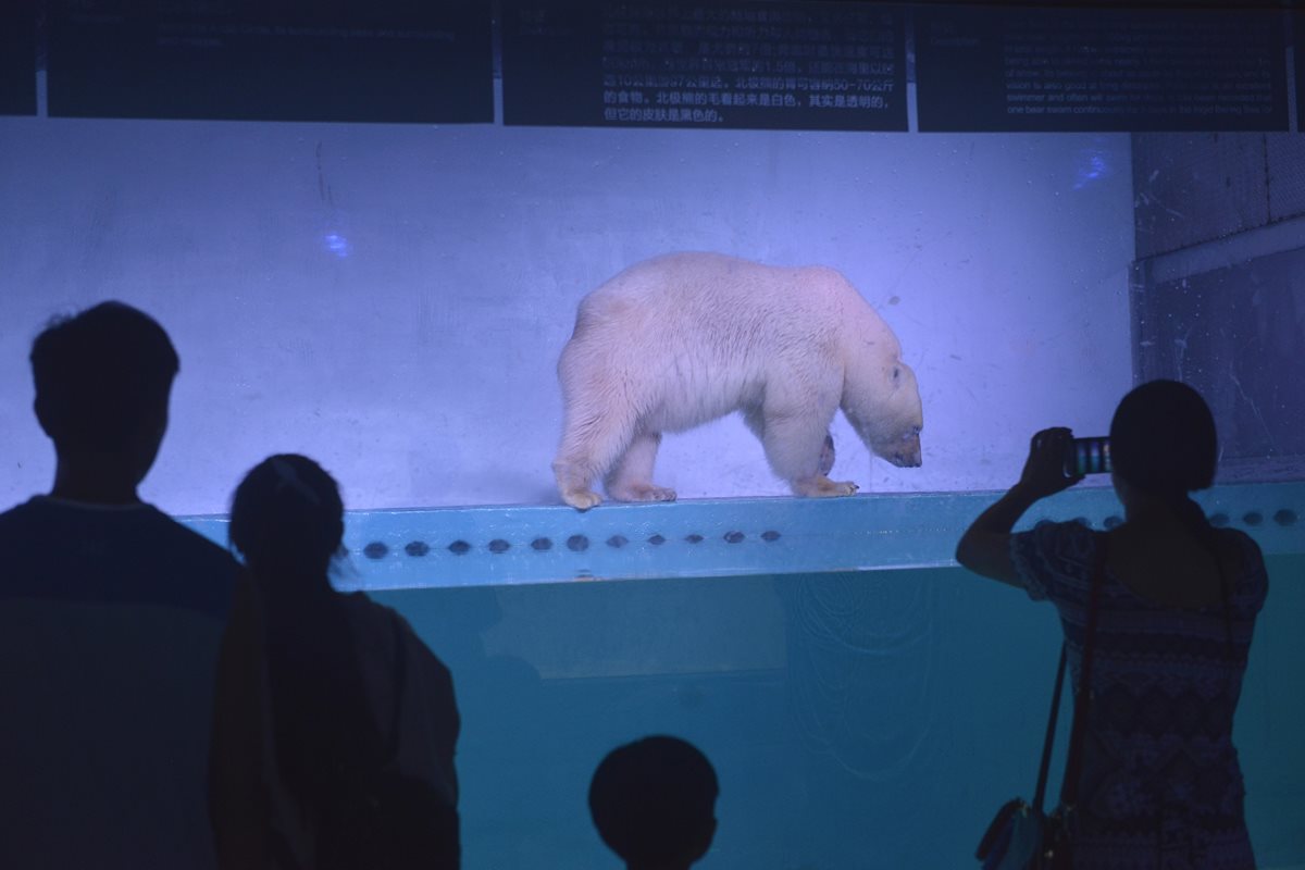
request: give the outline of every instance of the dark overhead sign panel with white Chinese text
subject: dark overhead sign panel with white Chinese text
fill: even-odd
[[[505,124],[904,130],[902,13],[504,0]]]

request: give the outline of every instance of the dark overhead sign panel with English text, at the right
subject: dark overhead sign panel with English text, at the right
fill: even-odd
[[[920,130],[1285,130],[1271,9],[916,8]]]

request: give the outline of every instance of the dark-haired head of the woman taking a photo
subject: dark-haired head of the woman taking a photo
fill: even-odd
[[[1186,383],[1143,383],[1124,397],[1111,421],[1114,477],[1167,501],[1210,487],[1218,453],[1214,415]]]

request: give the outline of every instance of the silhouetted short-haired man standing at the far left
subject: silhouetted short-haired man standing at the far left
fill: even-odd
[[[31,348],[48,496],[0,514],[0,866],[211,867],[205,775],[235,561],[142,503],[179,369],[103,303]]]

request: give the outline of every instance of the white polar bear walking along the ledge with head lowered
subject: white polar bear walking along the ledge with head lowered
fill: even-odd
[[[920,466],[915,373],[887,323],[843,275],[675,253],[630,266],[579,303],[557,361],[564,400],[553,473],[587,510],[603,477],[616,501],[673,501],[652,483],[663,432],[741,411],[799,496],[850,496],[833,481],[839,407],[894,466]]]

